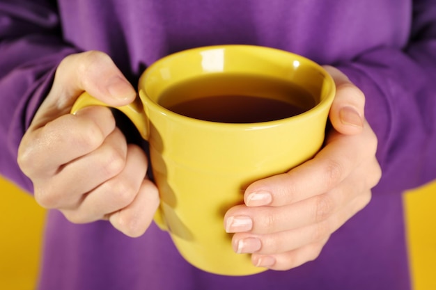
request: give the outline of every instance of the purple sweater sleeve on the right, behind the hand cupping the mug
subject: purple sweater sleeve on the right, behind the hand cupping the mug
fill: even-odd
[[[436,5],[414,1],[410,39],[338,65],[366,95],[383,177],[398,192],[436,178]]]

